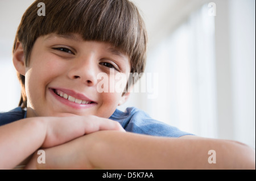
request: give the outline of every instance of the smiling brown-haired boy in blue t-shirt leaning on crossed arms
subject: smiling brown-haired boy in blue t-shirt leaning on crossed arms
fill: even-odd
[[[137,81],[129,73],[144,70],[146,44],[128,0],[35,1],[15,38],[22,98],[0,116],[0,168],[255,169],[246,145],[181,132],[136,108],[116,110]],[[117,84],[123,91],[111,91]],[[46,163],[38,163],[38,149]]]

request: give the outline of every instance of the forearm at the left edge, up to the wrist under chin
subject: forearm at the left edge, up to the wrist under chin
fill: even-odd
[[[13,169],[34,153],[44,142],[45,126],[37,117],[0,127],[0,169]]]

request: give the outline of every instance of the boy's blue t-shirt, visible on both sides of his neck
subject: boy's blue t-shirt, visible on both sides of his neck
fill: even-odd
[[[9,112],[0,113],[0,126],[24,119],[26,118],[26,113],[21,107],[17,107]],[[127,132],[164,137],[180,137],[190,134],[180,131],[171,125],[151,119],[146,112],[135,107],[129,107],[125,112],[115,110],[109,119],[118,121]]]

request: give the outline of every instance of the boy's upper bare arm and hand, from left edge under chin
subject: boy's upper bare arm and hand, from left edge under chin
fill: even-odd
[[[0,127],[0,169],[13,169],[39,148],[48,148],[99,130],[124,131],[96,116],[32,117]]]

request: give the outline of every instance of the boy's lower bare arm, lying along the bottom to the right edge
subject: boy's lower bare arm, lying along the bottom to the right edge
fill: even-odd
[[[216,163],[208,162],[209,150]],[[101,131],[46,149],[27,169],[255,169],[255,151],[234,141]]]

